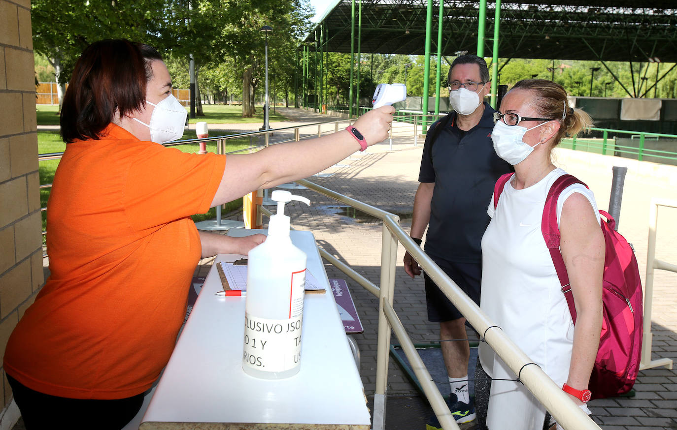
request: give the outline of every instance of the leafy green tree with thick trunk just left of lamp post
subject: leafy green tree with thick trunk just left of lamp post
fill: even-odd
[[[243,116],[253,116],[254,95],[263,80],[265,37],[260,28],[274,28],[268,40],[269,66],[282,64],[284,55],[292,53],[292,47],[299,43],[311,16],[307,0],[193,0],[192,9],[188,1],[175,0],[167,9],[171,18],[160,32],[161,39],[175,41],[167,45],[171,55],[186,59],[192,54],[197,75],[209,70],[204,76],[211,80],[210,86],[213,82],[233,82],[232,71],[237,70],[242,82]],[[223,64],[230,68],[222,68]],[[220,77],[219,70],[223,73]],[[286,70],[280,67],[276,76],[282,78]],[[196,87],[204,90],[199,83]]]

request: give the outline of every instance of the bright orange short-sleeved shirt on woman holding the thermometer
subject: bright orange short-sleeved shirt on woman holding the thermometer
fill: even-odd
[[[225,156],[139,141],[110,124],[66,145],[47,204],[51,276],[9,337],[5,371],[52,396],[150,388],[185,318]]]

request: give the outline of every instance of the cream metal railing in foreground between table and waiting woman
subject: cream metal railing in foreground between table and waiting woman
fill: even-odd
[[[483,333],[483,341],[496,351],[506,362],[508,367],[519,375],[519,380],[533,393],[538,401],[552,414],[554,419],[567,430],[586,430],[600,427],[590,419],[582,410],[576,406],[561,387],[555,383],[542,371],[539,366],[533,364],[529,357],[522,352],[519,347],[503,333],[500,327],[494,325],[484,312],[473,302],[458,285],[454,283],[447,275],[431,260],[423,250],[409,237],[409,235],[399,226],[399,217],[390,212],[385,212],[362,201],[352,199],[341,195],[302,179],[297,183],[312,189],[331,199],[339,201],[342,204],[351,206],[383,222],[383,236],[381,241],[381,261],[380,261],[380,284],[377,286],[366,277],[353,270],[348,264],[336,259],[332,254],[318,247],[320,256],[330,262],[336,268],[344,272],[367,291],[376,295],[379,299],[378,306],[378,343],[376,356],[376,391],[374,393],[374,414],[372,430],[385,429],[385,406],[386,406],[386,387],[387,371],[389,361],[389,346],[391,329],[395,337],[401,344],[401,348],[407,359],[412,364],[412,370],[420,382],[424,395],[433,408],[433,412],[439,419],[444,429],[459,429],[454,416],[435,385],[429,371],[425,367],[422,359],[416,352],[412,339],[410,339],[406,328],[399,320],[397,312],[393,309],[393,297],[395,294],[395,267],[397,265],[397,245],[401,243],[412,254],[414,259],[420,264],[422,269],[435,281],[441,291],[454,303],[454,306],[466,317],[468,323],[471,323],[477,333]],[[271,212],[259,206],[259,212],[267,216]]]

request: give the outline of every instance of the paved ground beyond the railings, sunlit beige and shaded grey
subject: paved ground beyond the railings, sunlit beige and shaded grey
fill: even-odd
[[[317,122],[326,116],[285,110],[282,114],[294,122]],[[276,124],[277,125],[277,124]],[[396,127],[395,130],[398,130]],[[403,128],[401,129],[403,130]],[[411,128],[409,129],[411,130]],[[311,181],[367,204],[399,214],[401,226],[409,231],[412,203],[418,186],[418,165],[422,140],[414,146],[413,133],[395,133],[393,145],[388,141],[355,153],[343,162],[310,178]],[[584,178],[595,192],[600,208],[608,207],[611,169],[591,168],[585,163],[559,155],[559,164]],[[663,181],[665,182],[665,181]],[[311,190],[296,190],[312,201],[312,206],[290,208],[294,229],[312,231],[318,245],[339,260],[350,264],[370,281],[379,283],[381,225],[366,216],[346,213],[336,201]],[[642,277],[647,258],[649,200],[651,197],[677,199],[674,186],[659,185],[651,176],[628,174],[621,210],[620,232],[636,247]],[[677,212],[660,212],[657,258],[677,262],[677,229],[672,226]],[[231,218],[241,219],[241,214]],[[264,222],[265,218],[264,218]],[[265,225],[264,225],[265,226]],[[438,338],[437,325],[427,321],[422,279],[410,279],[401,264],[403,247],[398,249],[394,308],[414,343],[431,343]],[[204,260],[196,273],[206,274],[211,260]],[[378,301],[345,274],[326,265],[328,277],[347,279],[365,331],[356,335],[362,353],[360,374],[365,392],[373,398],[376,380],[376,333]],[[657,272],[653,304],[654,358],[677,360],[677,274]],[[393,343],[396,339],[393,337]],[[424,429],[429,409],[399,365],[390,361],[388,377],[387,429]],[[640,372],[634,398],[594,400],[591,410],[604,430],[677,429],[677,373],[665,368]],[[462,429],[475,426],[463,425]]]

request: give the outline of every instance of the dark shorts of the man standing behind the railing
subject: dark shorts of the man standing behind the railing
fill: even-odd
[[[479,306],[479,293],[482,283],[482,263],[459,263],[435,258],[433,261],[462,289],[473,302]],[[428,307],[428,320],[433,323],[463,318],[456,306],[447,299],[447,296],[435,285],[430,277],[423,273],[425,279],[425,298]]]

